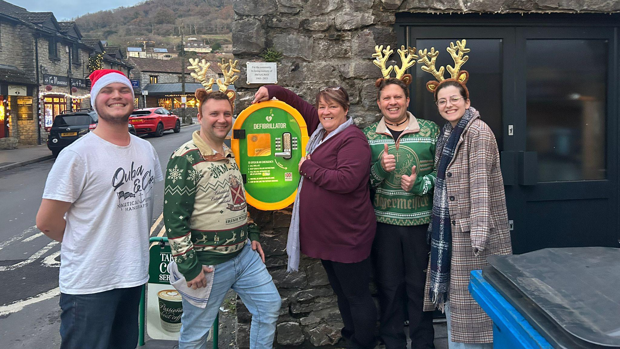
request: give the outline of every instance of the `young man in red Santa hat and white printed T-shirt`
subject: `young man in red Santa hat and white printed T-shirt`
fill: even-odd
[[[89,78],[99,124],[58,155],[37,227],[62,242],[61,349],[135,349],[161,166],[151,143],[128,132],[129,79],[117,70]]]

